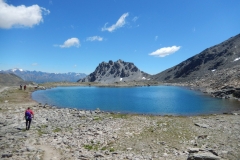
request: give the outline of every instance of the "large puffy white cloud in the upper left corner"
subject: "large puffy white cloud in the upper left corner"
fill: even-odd
[[[49,13],[49,10],[38,5],[13,6],[7,4],[4,0],[0,0],[0,28],[33,27],[43,22],[42,14]]]

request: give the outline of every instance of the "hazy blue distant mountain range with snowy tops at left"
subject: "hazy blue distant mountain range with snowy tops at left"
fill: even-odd
[[[0,73],[12,73],[24,81],[32,81],[36,83],[45,83],[45,82],[77,82],[79,79],[86,77],[84,73],[47,73],[41,71],[27,71],[22,69],[10,69],[5,71],[0,71]]]

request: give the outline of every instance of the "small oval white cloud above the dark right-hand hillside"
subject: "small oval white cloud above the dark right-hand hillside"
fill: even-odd
[[[181,46],[163,47],[163,48],[160,48],[160,49],[150,53],[149,55],[156,56],[156,57],[165,57],[165,56],[168,56],[170,54],[177,52],[180,48],[181,48]]]

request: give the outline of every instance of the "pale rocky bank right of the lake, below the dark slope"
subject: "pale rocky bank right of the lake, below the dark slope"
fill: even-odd
[[[237,99],[240,101],[240,65],[220,71],[212,71],[204,77],[191,81],[164,83],[168,85],[187,86],[200,90],[215,98]]]

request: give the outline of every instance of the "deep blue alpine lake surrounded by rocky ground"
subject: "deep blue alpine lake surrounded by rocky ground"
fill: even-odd
[[[236,100],[212,98],[176,86],[56,87],[33,92],[32,98],[64,108],[155,115],[200,115],[240,109]]]

